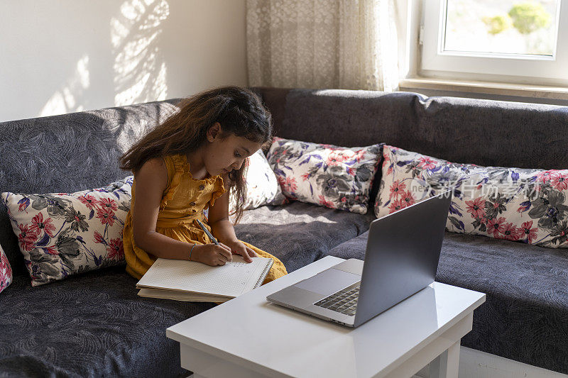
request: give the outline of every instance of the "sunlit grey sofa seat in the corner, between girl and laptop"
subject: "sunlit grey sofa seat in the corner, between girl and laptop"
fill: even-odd
[[[288,272],[327,255],[336,245],[368,230],[375,217],[293,202],[245,211],[236,236],[278,257]]]

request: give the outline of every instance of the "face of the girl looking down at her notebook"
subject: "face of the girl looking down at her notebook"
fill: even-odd
[[[209,143],[204,148],[203,162],[211,176],[227,174],[232,169],[239,169],[246,157],[253,155],[261,148],[260,143],[234,134],[221,138],[220,126],[217,122],[209,128],[207,132]]]

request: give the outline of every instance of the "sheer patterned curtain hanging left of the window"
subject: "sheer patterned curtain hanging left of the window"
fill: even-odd
[[[394,0],[247,0],[251,87],[393,91]]]

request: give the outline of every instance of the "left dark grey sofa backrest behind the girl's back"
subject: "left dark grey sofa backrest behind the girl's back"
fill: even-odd
[[[119,169],[119,157],[175,112],[178,101],[0,123],[0,193],[73,192],[123,179],[131,173]],[[14,274],[23,274],[18,239],[1,205],[0,245]]]

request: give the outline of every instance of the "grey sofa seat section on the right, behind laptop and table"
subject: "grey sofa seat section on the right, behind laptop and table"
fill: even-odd
[[[368,232],[329,255],[364,258]],[[568,373],[568,252],[446,233],[436,281],[487,294],[461,345]]]

